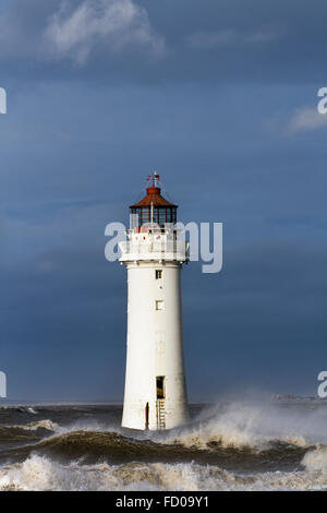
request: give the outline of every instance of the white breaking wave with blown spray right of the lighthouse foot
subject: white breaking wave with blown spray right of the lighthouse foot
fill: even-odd
[[[199,449],[220,444],[262,451],[276,442],[307,448],[327,444],[326,425],[327,408],[291,410],[240,402],[208,409],[193,425],[166,436],[166,442]]]

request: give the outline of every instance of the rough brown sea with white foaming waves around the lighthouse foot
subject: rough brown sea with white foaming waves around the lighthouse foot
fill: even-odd
[[[121,406],[0,406],[0,490],[327,490],[327,404],[192,405],[182,428]]]

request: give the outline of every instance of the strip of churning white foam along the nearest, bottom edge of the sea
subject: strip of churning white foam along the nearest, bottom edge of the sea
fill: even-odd
[[[63,466],[32,455],[0,467],[0,490],[324,490],[323,470],[240,475],[197,464]]]

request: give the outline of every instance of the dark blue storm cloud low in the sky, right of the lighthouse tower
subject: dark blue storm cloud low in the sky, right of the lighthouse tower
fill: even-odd
[[[241,383],[315,395],[326,361],[326,248],[261,242],[226,250],[216,276],[184,271],[194,396],[203,399],[209,383],[213,395],[240,392]]]

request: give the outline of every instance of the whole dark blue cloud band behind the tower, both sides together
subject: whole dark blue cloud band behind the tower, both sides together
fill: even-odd
[[[125,271],[100,250],[100,243],[66,243],[8,270],[2,362],[14,375],[16,396],[37,366],[41,398],[68,396],[66,391],[70,398],[105,398],[108,386],[114,390],[111,398],[122,397]],[[245,243],[227,248],[225,258],[218,275],[202,275],[195,263],[183,271],[192,397],[208,399],[242,381],[270,391],[313,392],[327,336],[326,249]],[[78,382],[83,372],[90,379]],[[107,383],[106,390],[99,383]],[[210,392],[208,383],[215,383]],[[36,394],[34,380],[27,391]]]

